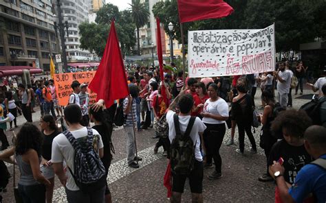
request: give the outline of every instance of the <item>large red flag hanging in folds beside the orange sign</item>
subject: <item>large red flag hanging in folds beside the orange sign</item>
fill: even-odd
[[[113,20],[102,60],[93,80],[89,83],[89,89],[97,94],[96,100],[105,100],[107,108],[113,104],[114,100],[129,95],[127,76]]]

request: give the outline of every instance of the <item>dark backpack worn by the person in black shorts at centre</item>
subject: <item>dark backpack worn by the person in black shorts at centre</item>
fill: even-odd
[[[181,134],[179,117],[177,114],[173,115],[175,138],[170,147],[171,171],[173,174],[189,175],[193,170],[195,163],[195,145],[191,139],[190,133],[195,119],[196,117],[191,117],[191,119],[189,119],[186,132]]]

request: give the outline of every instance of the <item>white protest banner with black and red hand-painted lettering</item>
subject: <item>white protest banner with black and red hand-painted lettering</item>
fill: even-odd
[[[217,77],[274,71],[275,29],[188,32],[189,77]]]

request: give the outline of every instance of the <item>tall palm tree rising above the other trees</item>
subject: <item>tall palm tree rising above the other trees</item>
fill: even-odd
[[[139,28],[146,25],[149,21],[149,11],[147,10],[144,3],[140,0],[133,0],[131,5],[131,14],[133,16],[133,23],[137,28],[137,52],[140,55],[140,38],[139,38]]]

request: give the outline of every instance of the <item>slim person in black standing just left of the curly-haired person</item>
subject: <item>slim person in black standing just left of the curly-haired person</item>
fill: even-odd
[[[261,128],[263,134],[261,134],[261,142],[259,143],[259,145],[261,146],[261,148],[263,148],[265,152],[267,172],[262,176],[259,176],[258,180],[265,182],[273,180],[272,176],[270,176],[270,173],[268,172],[268,158],[270,156],[270,150],[272,149],[274,143],[276,143],[277,139],[272,136],[272,132],[270,132],[270,126],[272,125],[272,121],[274,121],[275,119],[273,114],[275,106],[274,95],[271,91],[265,90],[261,94],[261,97],[266,105],[263,110],[263,114],[259,115],[259,119],[261,121],[261,124],[263,125],[263,127]]]

